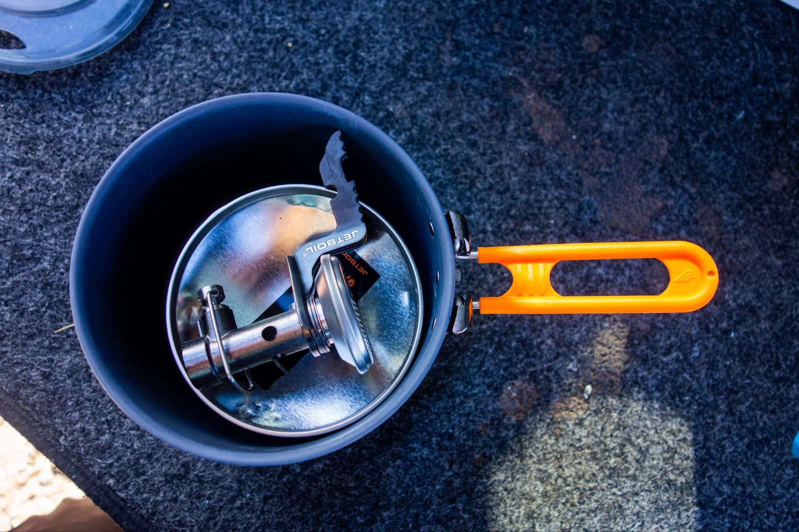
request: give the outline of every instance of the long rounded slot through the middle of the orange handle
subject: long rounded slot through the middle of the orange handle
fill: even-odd
[[[669,286],[669,270],[657,258],[564,261],[550,282],[562,296],[658,295]]]

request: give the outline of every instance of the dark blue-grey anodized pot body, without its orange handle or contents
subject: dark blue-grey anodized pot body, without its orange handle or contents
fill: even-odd
[[[337,130],[347,138],[349,160],[357,162],[348,166],[348,178],[356,180],[360,201],[394,227],[419,271],[424,294],[419,347],[391,394],[355,423],[300,439],[257,434],[209,414],[175,365],[162,312],[170,274],[185,242],[217,208],[264,187],[320,184],[319,156]],[[165,442],[226,463],[312,459],[387,420],[431,367],[455,290],[449,234],[419,167],[360,116],[291,94],[210,100],[142,135],[93,192],[70,270],[78,338],[105,392]]]

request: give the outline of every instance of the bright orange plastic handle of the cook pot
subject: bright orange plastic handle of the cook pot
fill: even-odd
[[[477,258],[513,274],[505,294],[480,298],[481,314],[690,312],[706,305],[718,287],[713,258],[682,241],[480,247]],[[550,273],[558,262],[614,258],[657,258],[669,270],[669,286],[662,294],[633,296],[562,296],[552,288]]]

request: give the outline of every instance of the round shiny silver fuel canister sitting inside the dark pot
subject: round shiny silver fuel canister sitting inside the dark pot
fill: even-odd
[[[301,276],[293,276],[292,290],[292,260],[287,258],[336,230],[331,207],[335,196],[334,191],[309,185],[269,187],[244,195],[202,224],[173,272],[167,325],[177,365],[205,404],[252,431],[312,436],[359,420],[400,383],[419,344],[419,274],[400,236],[363,203],[366,240],[354,250],[317,259],[309,296],[317,304],[295,301],[293,294],[302,290],[296,286]],[[301,254],[300,250],[300,258]],[[336,292],[329,285],[338,289],[343,301],[352,298],[354,314],[348,313],[345,303],[338,308],[345,316],[344,328],[351,329],[352,342],[363,337],[368,345],[371,365],[365,368],[342,360],[342,353],[324,354],[324,348],[323,353],[311,353],[314,349],[308,349],[294,317],[298,307],[311,309],[311,314],[318,308],[316,321],[324,322],[321,343],[329,342],[333,350],[342,345],[344,340],[336,341],[335,336],[342,334],[343,325],[329,325],[332,310],[323,314],[324,305],[318,304],[320,296],[329,301],[328,295],[318,293],[320,288]],[[224,287],[224,304],[209,294],[213,286]],[[201,290],[203,301],[198,298]],[[353,315],[360,317],[360,323],[352,320]],[[227,359],[233,366],[230,371],[237,373],[233,382],[219,364],[209,317],[217,318],[222,344],[228,346],[229,355],[236,355]],[[275,345],[292,353],[276,353]],[[312,356],[319,354],[324,356]],[[198,377],[195,363],[216,369]]]

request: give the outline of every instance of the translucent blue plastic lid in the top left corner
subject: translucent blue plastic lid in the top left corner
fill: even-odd
[[[75,65],[117,45],[153,0],[0,0],[0,70]]]

